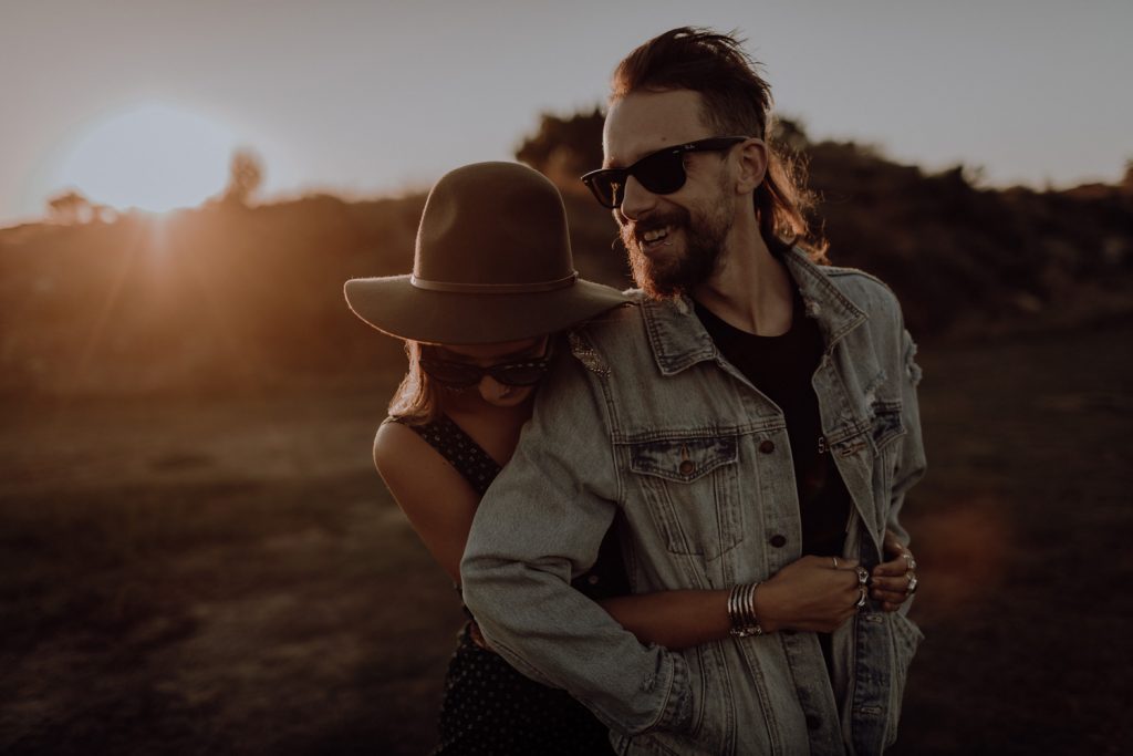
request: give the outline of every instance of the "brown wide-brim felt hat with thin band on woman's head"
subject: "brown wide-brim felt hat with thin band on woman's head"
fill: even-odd
[[[380,331],[431,343],[518,341],[629,298],[579,278],[555,186],[519,163],[474,163],[429,192],[414,272],[351,279],[350,308]]]

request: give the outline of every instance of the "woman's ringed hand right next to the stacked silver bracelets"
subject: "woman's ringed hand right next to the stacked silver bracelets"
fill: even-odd
[[[858,562],[841,557],[803,557],[756,589],[756,615],[764,631],[833,632],[854,615],[863,596]],[[864,569],[862,569],[864,574]]]

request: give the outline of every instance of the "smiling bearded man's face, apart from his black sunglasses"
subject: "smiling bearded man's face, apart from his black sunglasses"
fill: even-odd
[[[700,95],[689,90],[638,92],[610,108],[605,167],[622,168],[666,146],[712,136],[700,118]],[[653,194],[630,177],[614,211],[629,250],[633,280],[646,294],[687,292],[716,269],[735,212],[729,163],[719,153],[684,156],[684,186]]]

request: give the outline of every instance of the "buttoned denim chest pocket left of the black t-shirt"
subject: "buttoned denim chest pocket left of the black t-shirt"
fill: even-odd
[[[713,560],[743,541],[738,447],[734,435],[628,445],[632,481],[671,553]]]

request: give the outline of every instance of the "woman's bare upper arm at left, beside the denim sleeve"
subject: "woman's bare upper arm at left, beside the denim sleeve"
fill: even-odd
[[[374,439],[374,465],[418,537],[453,581],[479,496],[433,447],[401,423]]]

